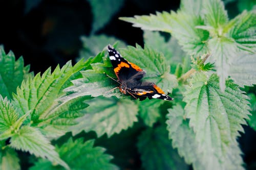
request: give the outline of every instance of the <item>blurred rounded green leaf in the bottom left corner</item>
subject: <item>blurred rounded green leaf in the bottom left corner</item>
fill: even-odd
[[[2,143],[1,143],[2,142]],[[0,169],[1,170],[19,170],[19,158],[17,156],[17,153],[9,148],[5,147],[5,142],[1,141],[0,147]]]

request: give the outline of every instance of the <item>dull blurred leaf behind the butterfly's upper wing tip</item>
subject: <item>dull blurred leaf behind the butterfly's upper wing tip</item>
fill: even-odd
[[[118,47],[125,47],[125,43],[112,36],[106,35],[92,35],[90,37],[81,36],[82,50],[80,51],[80,58],[89,58],[99,54],[107,44],[114,44],[118,42]]]

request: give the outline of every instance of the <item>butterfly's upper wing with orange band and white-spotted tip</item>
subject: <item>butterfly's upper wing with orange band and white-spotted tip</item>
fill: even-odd
[[[120,82],[125,82],[131,78],[136,80],[143,78],[145,71],[139,66],[125,60],[111,45],[108,46],[108,51],[116,77]]]

